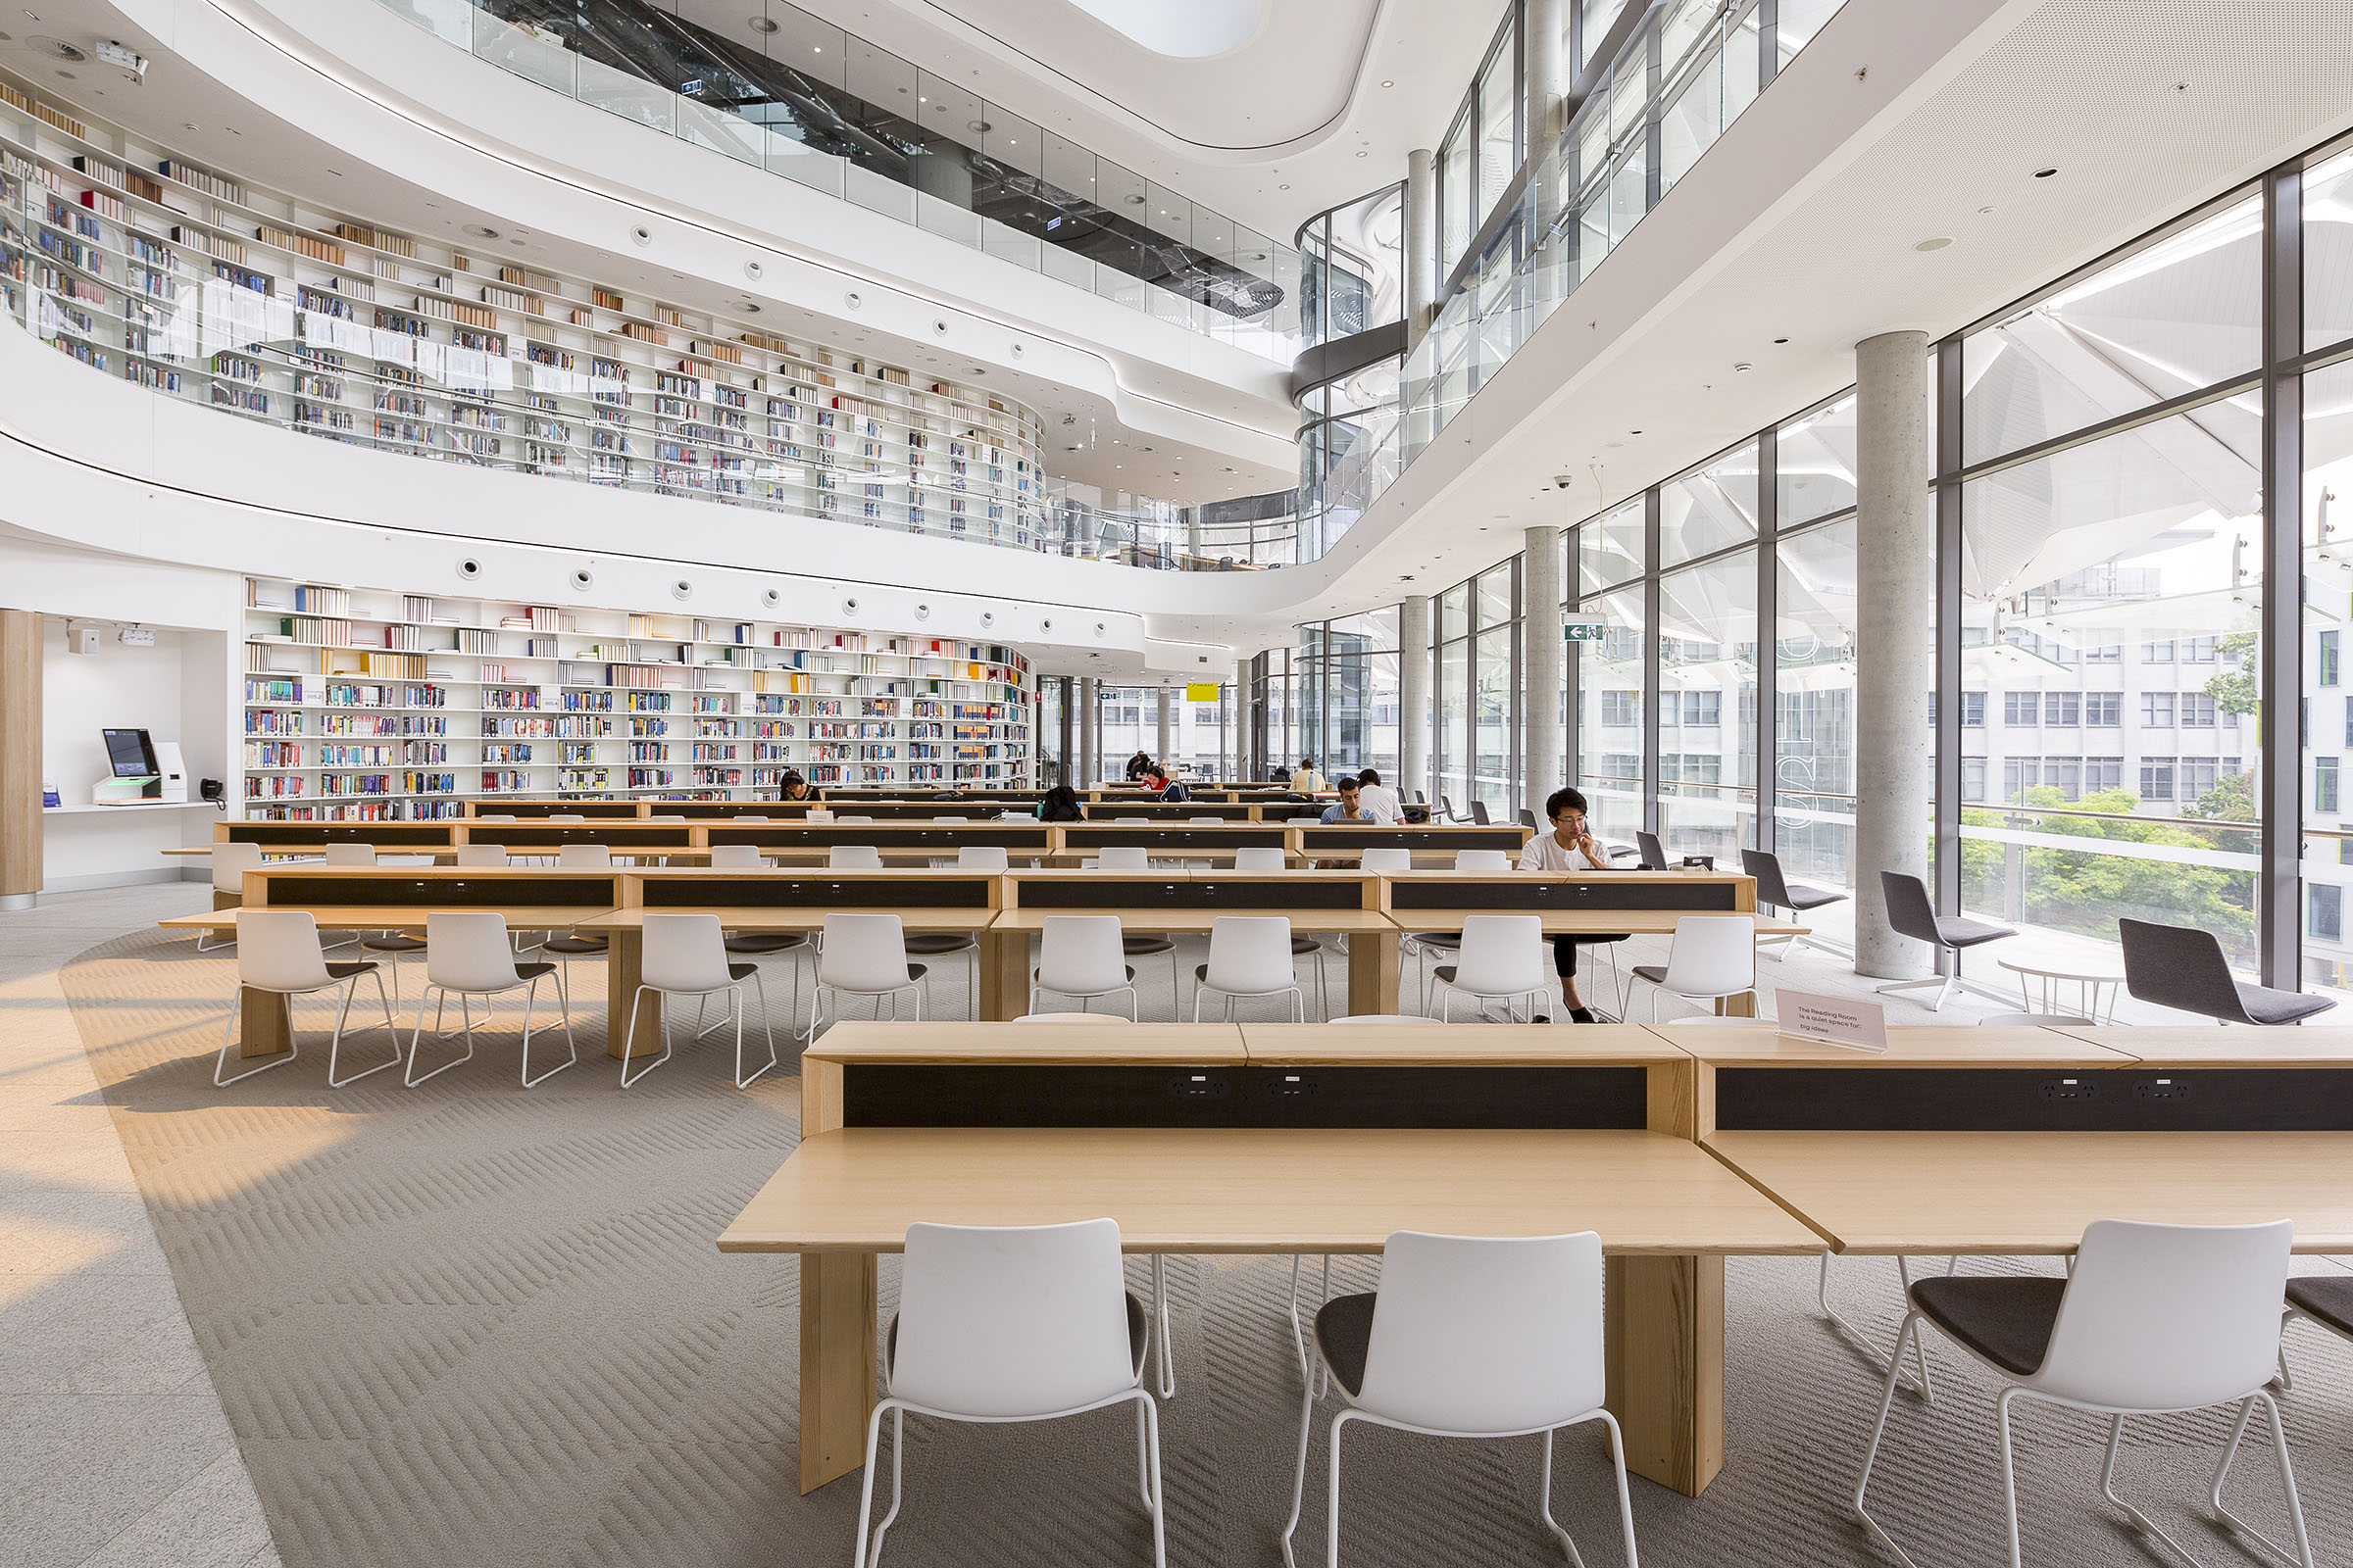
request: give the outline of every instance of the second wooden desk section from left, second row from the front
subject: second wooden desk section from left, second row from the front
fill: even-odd
[[[896,914],[906,931],[979,938],[981,1016],[1002,1013],[991,964],[1005,872],[941,870],[765,870],[765,872],[628,872],[616,907],[579,922],[581,936],[605,936],[605,1053],[661,1053],[661,997],[638,997],[645,978],[647,914],[713,914],[727,931],[824,931],[826,914]],[[1026,985],[1021,992],[1026,997]],[[631,1004],[638,1004],[635,1048]],[[1014,1013],[1002,1013],[1012,1018]]]

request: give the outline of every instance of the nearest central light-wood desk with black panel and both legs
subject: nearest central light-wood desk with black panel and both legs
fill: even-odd
[[[1821,1241],[1673,1124],[1687,1098],[1654,1084],[1687,1072],[1631,1027],[840,1025],[802,1056],[800,1147],[718,1246],[800,1255],[814,1490],[861,1462],[875,1258],[915,1220],[1111,1215],[1153,1255],[1598,1229],[1628,1467],[1699,1493],[1722,1467],[1722,1258]]]

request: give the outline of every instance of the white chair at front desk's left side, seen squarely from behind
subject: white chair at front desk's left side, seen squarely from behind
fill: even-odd
[[[831,947],[831,943],[828,943]],[[984,1229],[911,1225],[899,1314],[882,1335],[885,1396],[866,1422],[854,1568],[873,1568],[906,1500],[906,1413],[962,1422],[1033,1422],[1136,1406],[1136,1486],[1153,1519],[1153,1566],[1167,1563],[1160,1413],[1144,1387],[1151,1328],[1127,1293],[1113,1220]],[[892,1425],[892,1500],[868,1544],[882,1418]]]

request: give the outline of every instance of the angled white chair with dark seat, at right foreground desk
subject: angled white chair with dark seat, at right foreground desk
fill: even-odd
[[[2009,1458],[2009,1406],[2021,1399],[2108,1418],[2108,1460],[2099,1493],[2139,1528],[2184,1561],[2172,1535],[2141,1509],[2115,1495],[2115,1460],[2129,1415],[2177,1415],[2212,1406],[2238,1406],[2231,1441],[2207,1507],[2224,1523],[2238,1523],[2221,1505],[2247,1422],[2257,1403],[2271,1425],[2271,1448],[2280,1460],[2280,1488],[2294,1549],[2273,1547],[2301,1568],[2313,1568],[2313,1547],[2297,1500],[2297,1474],[2287,1462],[2280,1406],[2266,1387],[2280,1356],[2280,1300],[2287,1288],[2289,1220],[2271,1225],[2139,1225],[2094,1220],[2075,1248],[2075,1272],[2042,1276],[1920,1279],[1911,1286],[1911,1309],[1897,1328],[1892,1368],[1904,1361],[1906,1335],[1934,1324],[1953,1345],[1977,1359],[2007,1387],[1993,1401],[2002,1458],[2002,1507],[2009,1526],[2009,1566],[2021,1566],[2019,1488]],[[1887,1432],[1897,1371],[1887,1373],[1880,1413],[1871,1422],[1864,1472],[1854,1481],[1854,1516],[1897,1561],[1904,1549],[1864,1507],[1871,1465]],[[2245,1526],[2238,1526],[2245,1528]],[[2266,1542],[2268,1544],[2268,1542]]]

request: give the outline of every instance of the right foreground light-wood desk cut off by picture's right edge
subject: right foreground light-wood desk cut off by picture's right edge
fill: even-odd
[[[1885,1056],[1659,1034],[1699,1058],[1706,1147],[1840,1253],[2071,1253],[2092,1220],[2280,1215],[2299,1253],[2353,1248],[2353,1030],[1899,1027]]]

